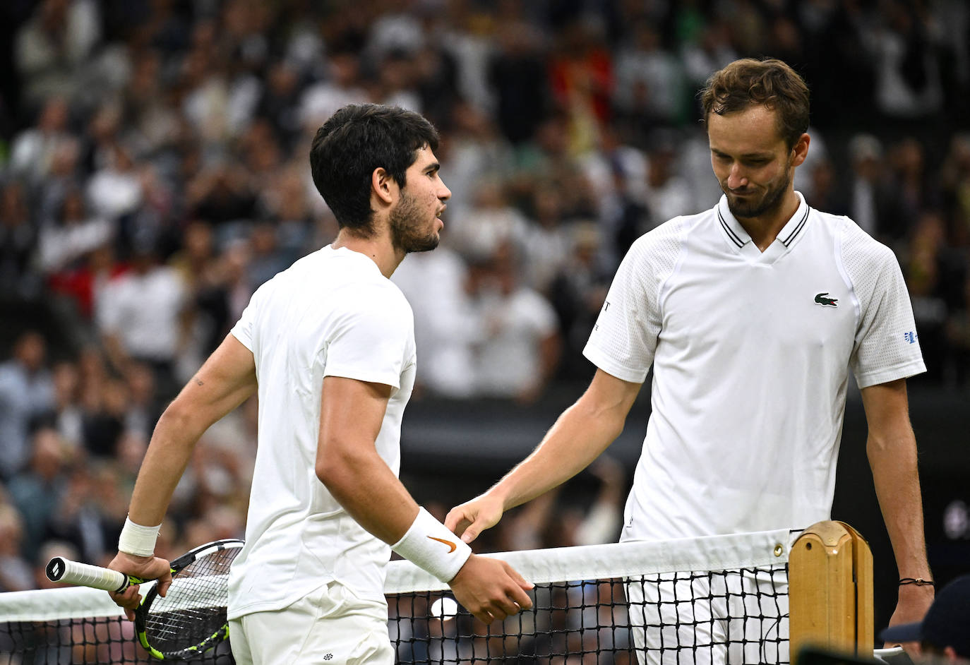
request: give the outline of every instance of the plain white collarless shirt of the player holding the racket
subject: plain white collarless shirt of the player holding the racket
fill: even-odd
[[[370,258],[327,246],[261,286],[232,334],[255,358],[259,445],[229,618],[284,608],[331,581],[383,602],[390,547],[316,476],[320,394],[325,376],[393,388],[375,445],[397,474],[416,361],[410,305]]]

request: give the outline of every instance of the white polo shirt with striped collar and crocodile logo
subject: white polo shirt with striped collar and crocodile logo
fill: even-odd
[[[891,250],[798,197],[763,253],[722,197],[617,271],[584,354],[626,381],[654,366],[622,540],[828,520],[850,367],[860,388],[925,370]]]

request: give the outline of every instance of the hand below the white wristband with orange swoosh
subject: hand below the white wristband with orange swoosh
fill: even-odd
[[[533,585],[504,561],[471,554],[450,583],[455,599],[485,623],[517,615],[533,606],[526,594]]]

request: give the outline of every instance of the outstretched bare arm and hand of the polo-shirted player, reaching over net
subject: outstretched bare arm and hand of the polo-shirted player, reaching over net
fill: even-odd
[[[470,543],[498,523],[509,508],[551,490],[586,468],[623,431],[642,385],[598,369],[586,393],[563,412],[533,453],[491,490],[452,508],[445,526]]]

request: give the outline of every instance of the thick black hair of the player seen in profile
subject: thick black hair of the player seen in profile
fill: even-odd
[[[400,185],[417,151],[437,149],[437,130],[420,113],[380,104],[350,104],[316,131],[310,173],[342,229],[372,234],[371,175],[383,168]]]

